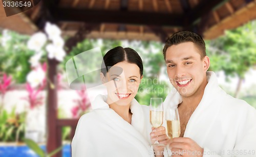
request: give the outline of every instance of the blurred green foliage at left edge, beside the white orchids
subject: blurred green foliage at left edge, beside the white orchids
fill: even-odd
[[[30,71],[30,57],[33,51],[27,48],[29,36],[15,32],[7,32],[8,40],[5,45],[0,45],[0,71],[5,71],[13,76],[16,83],[25,83],[27,73]],[[1,35],[2,40],[6,38]],[[2,42],[3,44],[3,42]]]

